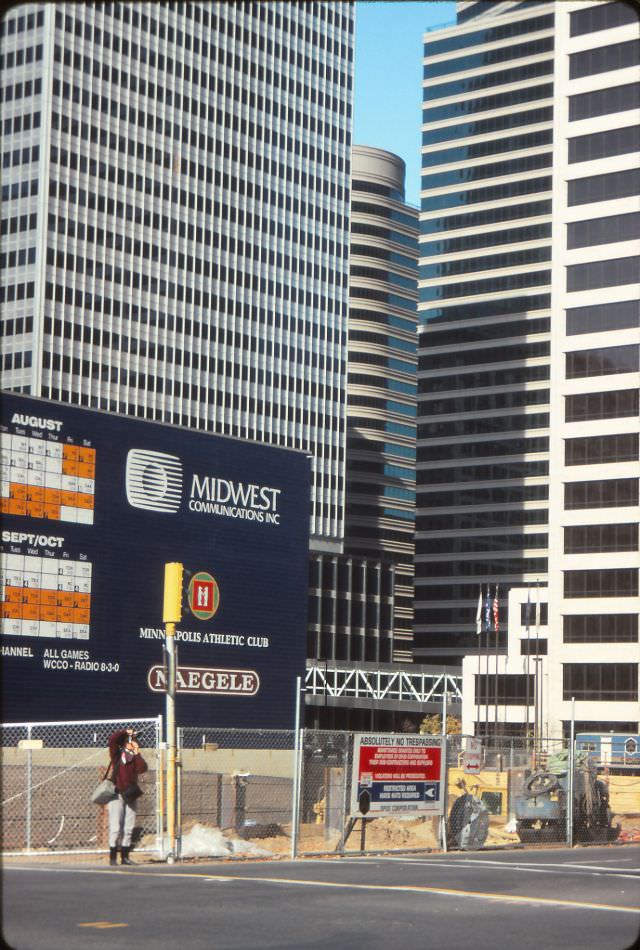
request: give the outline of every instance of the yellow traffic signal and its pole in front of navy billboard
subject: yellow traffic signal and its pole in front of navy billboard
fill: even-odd
[[[167,648],[166,743],[167,743],[167,863],[176,856],[176,623],[182,618],[182,564],[164,566],[164,606]]]

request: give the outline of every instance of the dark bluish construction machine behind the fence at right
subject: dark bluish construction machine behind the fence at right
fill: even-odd
[[[567,840],[569,795],[568,753],[549,756],[546,769],[525,774],[524,788],[515,799],[516,830],[523,844]],[[615,841],[609,789],[598,778],[588,757],[578,753],[573,770],[573,834],[576,841]]]

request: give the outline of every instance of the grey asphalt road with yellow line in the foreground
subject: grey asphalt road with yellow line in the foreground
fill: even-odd
[[[3,867],[14,950],[627,950],[640,847]]]

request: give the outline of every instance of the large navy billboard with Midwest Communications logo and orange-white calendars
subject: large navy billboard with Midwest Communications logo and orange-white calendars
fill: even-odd
[[[162,713],[179,561],[177,722],[293,725],[306,455],[9,393],[0,439],[3,721]]]

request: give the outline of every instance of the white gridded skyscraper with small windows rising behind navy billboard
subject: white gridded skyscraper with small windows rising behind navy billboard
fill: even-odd
[[[2,21],[3,386],[307,451],[340,550],[353,8]]]

